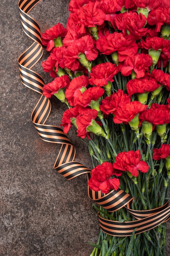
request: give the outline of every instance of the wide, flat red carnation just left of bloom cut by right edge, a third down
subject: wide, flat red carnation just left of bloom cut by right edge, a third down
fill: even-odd
[[[153,92],[160,84],[154,78],[135,78],[128,81],[126,84],[129,96],[135,93]]]

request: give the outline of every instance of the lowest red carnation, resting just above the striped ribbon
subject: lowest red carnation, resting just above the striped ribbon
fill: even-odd
[[[94,191],[102,191],[109,193],[111,189],[117,190],[120,186],[119,179],[113,177],[113,165],[109,162],[104,162],[101,165],[92,169],[92,176],[89,179],[88,185]]]

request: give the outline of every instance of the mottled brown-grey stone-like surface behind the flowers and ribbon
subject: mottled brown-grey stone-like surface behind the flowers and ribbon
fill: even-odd
[[[41,0],[29,14],[44,32],[57,22],[66,24],[68,3]],[[97,241],[99,225],[86,175],[67,181],[56,173],[53,164],[60,147],[42,141],[30,119],[39,94],[22,85],[17,58],[32,43],[22,31],[17,0],[1,0],[0,256],[89,256],[87,241]],[[33,70],[49,81],[41,61]],[[46,124],[59,125],[65,109],[53,99]],[[75,160],[91,168],[88,150],[74,129],[68,137],[76,145]],[[168,256],[169,243],[166,248]]]

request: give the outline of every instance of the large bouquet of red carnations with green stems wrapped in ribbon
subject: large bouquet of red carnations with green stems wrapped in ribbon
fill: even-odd
[[[91,256],[163,256],[170,2],[71,0],[69,10],[66,28],[58,23],[41,35],[50,52],[43,70],[53,78],[43,94],[68,106],[63,131],[74,126],[92,156],[88,193],[101,231]]]

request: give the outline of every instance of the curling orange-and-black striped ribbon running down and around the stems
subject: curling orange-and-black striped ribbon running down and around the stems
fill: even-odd
[[[44,80],[39,74],[31,70],[43,54],[41,32],[38,23],[28,15],[29,11],[39,1],[41,0],[20,0],[18,2],[24,32],[34,41],[18,58],[21,81],[23,85],[41,95],[31,114],[31,120],[41,139],[51,143],[61,144],[59,155],[54,163],[54,169],[68,180],[86,173],[88,181],[91,177],[91,170],[78,162],[74,162],[76,150],[63,130],[60,127],[45,124],[50,114],[51,103],[42,94]],[[92,191],[88,186],[88,195],[89,198],[110,212],[125,207],[133,218],[136,219],[130,222],[118,222],[102,218],[98,214],[102,231],[111,236],[131,236],[134,229],[136,229],[135,234],[140,234],[153,229],[170,218],[170,206],[168,206],[168,202],[156,209],[135,211],[130,207],[134,198],[121,189],[103,194],[101,191]]]

